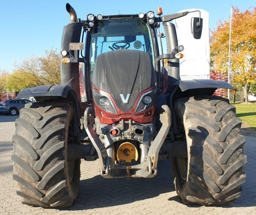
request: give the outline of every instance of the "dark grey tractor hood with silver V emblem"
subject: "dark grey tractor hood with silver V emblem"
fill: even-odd
[[[92,83],[109,93],[122,112],[129,112],[139,94],[156,83],[156,73],[147,52],[119,49],[97,57]]]

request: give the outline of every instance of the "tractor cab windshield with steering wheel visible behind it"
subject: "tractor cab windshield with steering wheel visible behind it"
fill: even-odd
[[[150,28],[141,19],[108,19],[98,21],[91,28],[89,70],[90,83],[98,55],[116,49],[134,49],[148,52],[155,66],[154,47]]]

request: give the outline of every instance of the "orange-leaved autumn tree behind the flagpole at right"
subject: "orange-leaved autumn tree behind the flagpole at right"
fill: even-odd
[[[242,85],[245,102],[252,83],[256,82],[256,7],[240,12],[233,7],[230,69],[233,80]],[[228,72],[229,21],[217,23],[211,31],[211,69]]]

